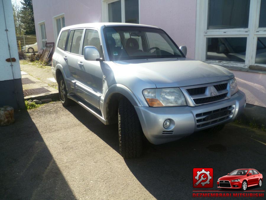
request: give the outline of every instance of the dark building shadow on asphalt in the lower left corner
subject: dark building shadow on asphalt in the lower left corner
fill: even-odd
[[[75,199],[27,111],[0,127],[0,199]]]

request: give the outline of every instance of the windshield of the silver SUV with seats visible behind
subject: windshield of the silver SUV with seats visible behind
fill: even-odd
[[[183,57],[160,29],[119,26],[103,31],[110,60]]]

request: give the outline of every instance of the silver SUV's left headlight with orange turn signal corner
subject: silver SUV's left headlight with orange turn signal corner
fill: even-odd
[[[144,89],[142,93],[151,107],[186,105],[185,97],[178,87]]]

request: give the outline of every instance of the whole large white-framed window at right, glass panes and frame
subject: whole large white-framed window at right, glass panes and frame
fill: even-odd
[[[266,69],[266,0],[197,1],[195,58]]]

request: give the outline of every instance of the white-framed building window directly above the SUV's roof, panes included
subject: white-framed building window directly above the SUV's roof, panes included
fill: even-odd
[[[103,22],[139,23],[139,0],[102,0]]]

